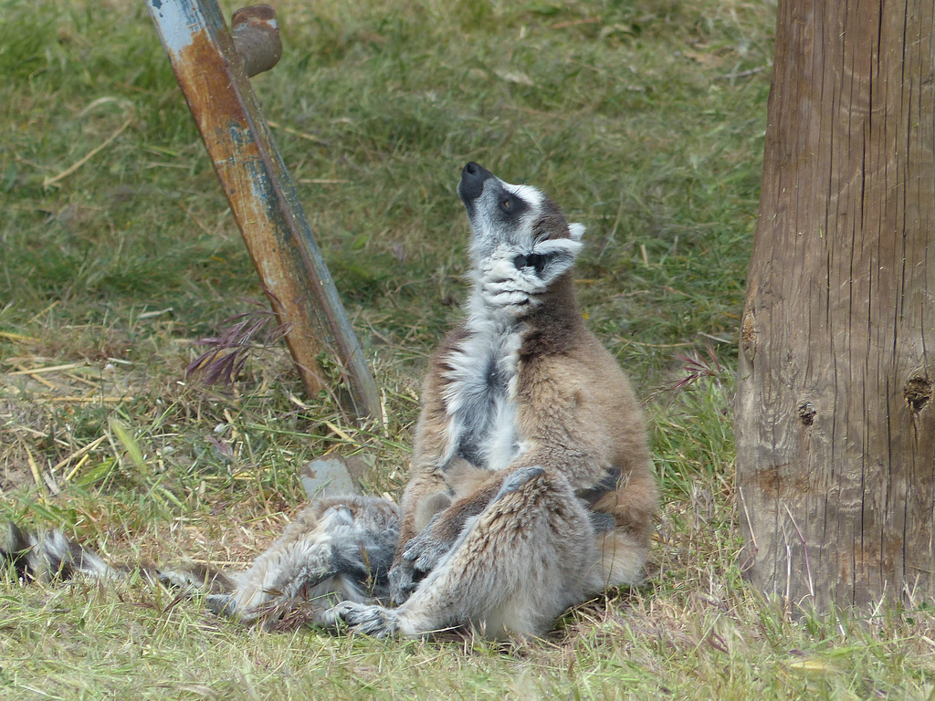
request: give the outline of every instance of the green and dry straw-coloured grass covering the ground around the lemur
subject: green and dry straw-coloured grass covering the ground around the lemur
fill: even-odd
[[[799,618],[741,579],[730,400],[773,7],[277,7],[284,55],[254,88],[385,430],[306,396],[281,346],[230,388],[184,378],[262,293],[151,21],[142,3],[0,0],[0,519],[122,561],[240,563],[324,452],[398,494],[425,358],[464,296],[453,188],[476,160],[588,226],[584,307],[648,403],[654,576],[502,647],[243,630],[144,580],[7,574],[0,696],[935,697],[930,609]],[[709,343],[710,372],[674,391],[698,370],[678,356]]]

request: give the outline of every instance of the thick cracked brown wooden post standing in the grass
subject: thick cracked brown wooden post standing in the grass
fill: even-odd
[[[933,5],[779,2],[737,481],[793,605],[935,594]]]

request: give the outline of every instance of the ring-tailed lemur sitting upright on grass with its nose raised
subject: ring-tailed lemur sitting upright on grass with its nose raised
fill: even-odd
[[[584,228],[477,164],[458,195],[472,290],[425,379],[401,508],[316,499],[243,574],[162,579],[244,622],[322,597],[313,620],[328,627],[488,637],[540,635],[588,595],[641,579],[656,487],[640,406],[575,297]],[[0,546],[33,576],[119,574],[58,532],[11,525]]]

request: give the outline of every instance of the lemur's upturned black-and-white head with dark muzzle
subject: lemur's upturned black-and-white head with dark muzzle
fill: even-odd
[[[475,301],[514,314],[575,263],[584,227],[529,185],[511,185],[476,163],[465,165],[458,196],[473,232]]]

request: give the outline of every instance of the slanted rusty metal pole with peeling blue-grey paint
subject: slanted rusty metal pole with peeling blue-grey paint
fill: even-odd
[[[279,60],[272,8],[238,10],[232,35],[216,0],[146,5],[270,304],[288,324],[307,391],[324,387],[316,358],[327,351],[346,378],[352,412],[381,421],[376,381],[250,84],[249,75]]]

